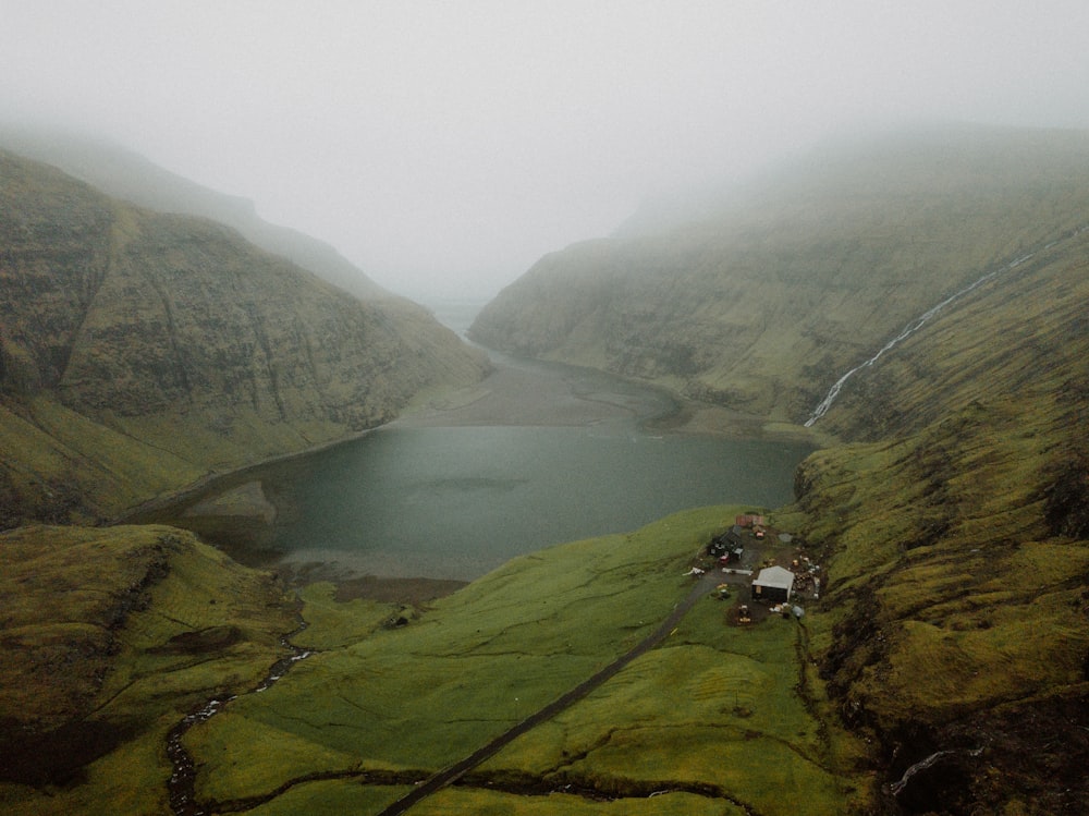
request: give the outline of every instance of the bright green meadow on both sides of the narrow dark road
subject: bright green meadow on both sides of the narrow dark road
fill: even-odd
[[[189,732],[198,800],[212,811],[244,801],[261,803],[255,813],[378,812],[656,629],[690,589],[692,558],[736,511],[688,511],[515,559],[407,625],[315,655]],[[328,599],[321,607],[328,621]],[[784,619],[727,628],[725,612],[700,601],[668,645],[414,811],[531,814],[544,806],[535,794],[568,785],[572,795],[548,800],[556,813],[617,812],[602,799],[628,813],[865,803],[851,739],[820,716],[819,693],[796,691],[804,630]],[[774,768],[757,771],[757,754]],[[676,792],[647,799],[660,789]]]

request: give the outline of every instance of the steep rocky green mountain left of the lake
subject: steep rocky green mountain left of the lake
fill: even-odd
[[[486,366],[210,221],[0,154],[5,522],[91,516],[392,418]]]

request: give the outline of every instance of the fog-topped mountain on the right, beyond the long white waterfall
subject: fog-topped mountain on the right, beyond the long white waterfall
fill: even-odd
[[[825,147],[714,219],[546,256],[470,337],[800,422],[909,319],[1087,211],[1085,133],[965,127]]]

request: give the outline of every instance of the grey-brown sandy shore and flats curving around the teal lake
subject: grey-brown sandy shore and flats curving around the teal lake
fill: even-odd
[[[812,439],[811,434],[798,434],[793,427],[769,428],[762,417],[684,399],[660,385],[563,364],[501,354],[494,357],[492,372],[479,382],[462,388],[426,389],[389,423],[234,471],[209,473],[173,494],[140,503],[111,524],[173,524],[193,529],[241,563],[278,574],[289,586],[329,581],[343,599],[369,598],[415,606],[449,595],[469,582],[423,575],[386,576],[323,562],[282,561],[278,551],[265,545],[271,541],[276,515],[284,512],[284,508],[276,508],[277,513],[269,519],[270,504],[262,492],[266,483],[261,472],[357,441],[382,428],[589,427],[624,423],[651,436]],[[224,497],[232,492],[234,496],[225,501]],[[254,500],[247,502],[246,497]],[[194,513],[198,506],[209,512]],[[274,497],[271,506],[276,506]]]

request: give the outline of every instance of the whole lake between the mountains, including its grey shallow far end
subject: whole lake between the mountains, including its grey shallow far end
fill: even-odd
[[[458,333],[474,312],[436,309]],[[246,563],[315,577],[469,581],[514,556],[685,508],[787,503],[794,467],[812,450],[644,431],[674,407],[669,397],[586,369],[492,360],[505,375],[485,383],[490,401],[468,415],[396,423],[218,486],[259,482],[277,508],[271,528],[196,528]]]

